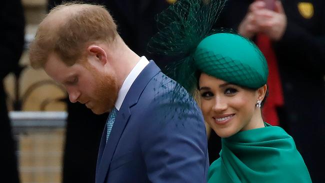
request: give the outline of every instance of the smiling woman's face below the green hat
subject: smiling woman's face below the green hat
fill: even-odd
[[[260,97],[259,89],[242,88],[205,73],[199,78],[199,92],[204,119],[220,137],[263,124],[255,104],[265,92]]]

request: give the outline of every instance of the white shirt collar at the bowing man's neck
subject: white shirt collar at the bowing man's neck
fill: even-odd
[[[121,107],[123,100],[128,90],[130,89],[132,83],[148,63],[148,59],[146,59],[145,56],[141,56],[140,60],[136,63],[130,73],[128,73],[121,88],[118,91],[117,100],[115,102],[115,107],[117,110],[119,110],[119,108]]]

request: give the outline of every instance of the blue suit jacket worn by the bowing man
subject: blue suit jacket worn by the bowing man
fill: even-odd
[[[99,146],[96,183],[206,182],[204,120],[196,103],[153,61],[137,76]],[[178,89],[177,89],[178,88]],[[173,98],[175,92],[181,97]]]

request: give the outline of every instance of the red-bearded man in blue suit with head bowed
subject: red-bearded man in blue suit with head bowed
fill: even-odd
[[[105,8],[55,7],[40,23],[29,58],[66,87],[71,102],[96,114],[111,111],[95,182],[206,181],[199,108],[152,60],[127,47]]]

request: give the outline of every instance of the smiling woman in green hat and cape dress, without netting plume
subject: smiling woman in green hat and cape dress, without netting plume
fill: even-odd
[[[208,182],[311,182],[292,137],[262,119],[268,70],[258,48],[216,33],[198,44],[194,64],[204,119],[222,141]]]

